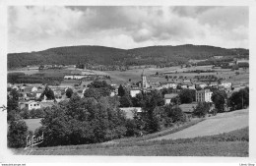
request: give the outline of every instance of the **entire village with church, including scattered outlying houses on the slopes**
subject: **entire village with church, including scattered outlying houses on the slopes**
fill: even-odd
[[[218,57],[219,58],[219,57]],[[248,61],[238,61],[236,60],[236,64],[239,65],[241,63],[248,63]],[[63,68],[63,66],[40,66],[39,68],[44,68],[44,70],[52,69],[52,68]],[[213,89],[224,90],[229,97],[232,92],[239,91],[242,88],[248,87],[248,83],[231,83],[228,81],[224,81],[224,79],[218,79],[216,75],[213,75],[212,70],[205,70],[208,72],[208,75],[200,75],[197,73],[194,75],[194,78],[191,77],[183,77],[182,73],[177,73],[177,70],[174,72],[165,72],[160,73],[157,72],[153,77],[161,77],[164,78],[163,82],[151,82],[148,80],[148,77],[144,69],[141,69],[141,76],[138,82],[131,82],[131,80],[127,80],[125,83],[111,83],[109,82],[110,77],[107,75],[95,75],[90,72],[83,72],[83,70],[79,70],[76,66],[69,66],[70,69],[75,69],[70,72],[70,75],[65,75],[63,81],[60,84],[49,85],[43,83],[8,83],[8,95],[10,94],[11,89],[16,89],[19,92],[19,107],[20,109],[27,108],[29,111],[36,109],[44,109],[46,107],[51,107],[56,103],[59,103],[63,100],[68,100],[70,97],[66,95],[68,89],[72,89],[72,92],[77,93],[81,98],[84,97],[86,90],[89,88],[89,84],[94,81],[105,81],[112,86],[109,96],[117,96],[118,88],[123,86],[127,91],[129,91],[129,95],[131,97],[136,97],[137,94],[142,92],[151,92],[153,90],[163,90],[163,89],[171,89],[171,91],[164,93],[164,104],[170,104],[172,99],[175,98],[181,89],[191,89],[195,90],[194,100],[191,103],[183,103],[180,104],[179,107],[182,109],[184,113],[191,114],[198,102],[209,102],[212,103],[212,94]],[[181,66],[182,68],[182,66]],[[29,67],[28,70],[37,70],[36,67]],[[183,67],[184,69],[184,67]],[[239,68],[238,68],[239,69]],[[240,68],[241,69],[241,68]],[[190,70],[189,70],[190,71]],[[201,70],[202,72],[203,70]],[[193,72],[193,71],[192,71]],[[184,72],[183,72],[184,73]],[[173,77],[171,74],[174,74]],[[152,76],[150,76],[152,77]],[[42,93],[45,87],[50,88],[54,93],[54,99],[48,99],[45,95],[42,96]],[[226,106],[226,103],[225,103]],[[138,107],[129,107],[129,108],[121,108],[132,118],[131,112],[135,109],[137,112],[141,111],[141,108]],[[211,109],[214,109],[214,105]],[[225,107],[225,110],[228,111],[228,107]]]

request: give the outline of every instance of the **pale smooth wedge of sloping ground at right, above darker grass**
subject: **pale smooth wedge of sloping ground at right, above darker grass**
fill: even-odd
[[[184,129],[183,131],[160,138],[153,138],[151,140],[213,136],[242,129],[248,126],[249,111],[248,109],[244,109],[218,114],[217,116],[209,117],[205,121],[200,122],[190,128]]]

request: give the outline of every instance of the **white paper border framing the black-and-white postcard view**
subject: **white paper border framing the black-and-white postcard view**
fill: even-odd
[[[250,116],[249,116],[249,129],[250,129],[250,149],[249,157],[130,157],[130,156],[19,156],[12,155],[6,148],[6,134],[7,122],[6,111],[0,110],[0,123],[1,124],[1,141],[0,141],[0,162],[9,163],[45,163],[45,162],[87,162],[87,163],[109,163],[109,162],[147,162],[147,163],[198,163],[208,162],[215,163],[256,163],[255,151],[255,111],[254,102],[255,89],[255,75],[253,72],[256,70],[254,63],[256,62],[256,1],[253,0],[0,0],[0,54],[1,54],[1,70],[0,70],[0,105],[6,105],[6,86],[7,86],[7,6],[12,5],[45,5],[45,6],[249,6],[249,38],[250,38]],[[175,164],[176,165],[176,164]],[[191,164],[193,165],[193,164]],[[198,165],[198,164],[197,164]],[[220,164],[218,164],[220,165]],[[228,164],[225,164],[228,165]]]

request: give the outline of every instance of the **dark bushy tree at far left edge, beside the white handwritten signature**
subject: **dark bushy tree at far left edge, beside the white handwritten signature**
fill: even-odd
[[[25,121],[11,121],[7,134],[8,146],[14,148],[25,147],[27,135],[28,126]]]

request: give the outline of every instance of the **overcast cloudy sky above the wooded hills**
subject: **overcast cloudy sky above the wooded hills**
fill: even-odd
[[[70,45],[248,48],[248,7],[25,7],[8,9],[8,52]]]

